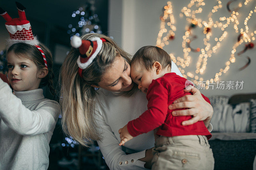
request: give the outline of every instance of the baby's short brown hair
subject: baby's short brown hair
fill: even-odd
[[[140,62],[143,64],[148,71],[150,71],[155,62],[159,62],[162,68],[171,69],[172,60],[170,55],[166,53],[163,49],[156,46],[144,46],[141,47],[132,57],[130,65],[134,62]]]

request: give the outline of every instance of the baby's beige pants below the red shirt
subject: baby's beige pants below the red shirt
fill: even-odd
[[[153,149],[152,170],[212,170],[214,158],[205,136],[161,136]]]

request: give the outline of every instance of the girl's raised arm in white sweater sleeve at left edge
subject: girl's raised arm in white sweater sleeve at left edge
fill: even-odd
[[[16,133],[37,135],[55,127],[60,113],[58,102],[45,100],[31,111],[12,94],[11,88],[2,79],[0,79],[0,94],[0,117]]]

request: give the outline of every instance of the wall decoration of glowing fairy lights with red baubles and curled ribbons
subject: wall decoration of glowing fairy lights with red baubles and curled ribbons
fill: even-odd
[[[252,6],[253,3],[251,0],[245,0],[243,3],[234,3],[234,1],[235,0],[228,1],[226,4],[227,10],[230,12],[230,16],[218,15],[218,11],[220,11],[224,5],[222,4],[221,0],[215,0],[215,4],[208,12],[204,11],[206,9],[205,7],[207,3],[207,1],[204,0],[191,0],[187,6],[184,6],[181,9],[180,18],[184,18],[188,22],[188,26],[185,27],[185,33],[182,36],[183,57],[176,57],[172,53],[170,56],[172,61],[178,66],[184,78],[190,79],[197,85],[199,84],[198,82],[200,82],[200,84],[204,86],[205,89],[209,88],[209,84],[219,81],[221,75],[227,73],[230,64],[233,64],[236,61],[235,55],[240,56],[246,50],[253,49],[254,47],[254,43],[252,41],[255,41],[256,29],[254,28],[255,30],[250,30],[249,32],[247,23],[252,18],[252,15],[256,12],[256,6]],[[253,9],[248,11],[248,16],[244,18],[243,21],[241,21],[241,17],[240,20],[238,19],[239,10],[248,4],[252,6]],[[207,7],[209,7],[209,5]],[[167,5],[164,6],[163,16],[160,17],[160,31],[156,38],[156,46],[159,48],[168,48],[168,45],[172,43],[172,41],[170,41],[171,36],[174,36],[175,31],[177,31],[175,26],[175,17],[173,16],[172,9],[172,3],[168,1]],[[199,16],[202,11],[204,11],[204,14],[206,14],[205,16],[207,16],[207,19],[205,20]],[[213,20],[213,18],[219,19]],[[231,24],[234,27],[234,32],[227,31],[228,26]],[[202,29],[203,37],[202,35],[195,35],[195,33],[193,33],[195,29]],[[216,32],[221,33],[220,35],[216,35]],[[228,33],[238,34],[238,41],[233,42],[229,60],[226,61],[225,66],[220,68],[220,70],[216,72],[212,77],[205,78],[203,74],[207,67],[207,60],[209,60],[210,57],[215,56],[214,53],[216,53],[218,48],[220,48],[222,41],[227,37]],[[203,39],[203,46],[200,46],[200,44],[192,43],[192,41],[198,38]],[[214,40],[214,44],[210,43],[210,40]],[[244,50],[238,53],[236,49],[240,45],[244,45]],[[194,72],[185,73],[185,68],[189,67],[191,63],[191,53],[198,54],[196,69]],[[246,60],[248,60],[246,65],[239,70],[244,70],[250,64],[251,59],[249,56],[246,57]]]

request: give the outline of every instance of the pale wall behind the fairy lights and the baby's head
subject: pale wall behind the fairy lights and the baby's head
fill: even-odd
[[[183,48],[181,47],[182,36],[184,32],[187,31],[185,29],[186,26],[190,25],[185,18],[180,18],[179,14],[181,9],[184,6],[187,6],[190,1],[178,1],[172,0],[172,10],[175,18],[175,26],[177,31],[175,32],[175,39],[173,41],[169,41],[170,44],[165,46],[163,49],[167,51],[167,53],[173,53],[174,56],[182,57],[183,56]],[[213,5],[217,5],[217,1],[205,0],[205,6],[203,6],[203,12],[197,18],[201,18],[202,20],[207,20],[207,15],[209,11],[212,9]],[[230,16],[230,13],[227,11],[226,4],[228,1],[222,1],[223,7],[218,9],[218,12],[212,15],[213,21],[219,20],[220,17]],[[241,1],[242,2],[242,1]],[[244,2],[244,1],[243,1]],[[242,2],[242,3],[243,3]],[[231,4],[231,8],[234,8],[239,2]],[[109,15],[109,35],[114,37],[115,41],[121,45],[127,52],[134,54],[140,47],[145,45],[156,45],[157,34],[160,30],[160,19],[159,17],[162,15],[162,9],[164,5],[167,4],[167,0],[120,0],[117,5],[116,0],[109,0],[109,8],[112,11],[118,11],[119,14]],[[254,10],[256,2],[250,2],[248,5],[243,5],[241,9],[239,9],[239,30],[240,28],[244,28],[244,19],[247,17],[250,10]],[[254,16],[253,16],[254,15]],[[120,19],[121,16],[121,19]],[[117,17],[119,17],[117,19]],[[252,14],[251,19],[248,22],[249,33],[256,30],[255,25],[255,13]],[[119,25],[121,24],[121,26]],[[117,26],[117,27],[116,27]],[[228,32],[227,37],[221,42],[220,48],[217,49],[217,52],[212,55],[211,58],[208,58],[207,67],[204,71],[204,74],[199,77],[203,77],[204,80],[214,78],[215,73],[219,72],[220,68],[225,68],[226,61],[229,61],[229,57],[231,54],[232,47],[234,43],[237,41],[238,33],[235,33],[234,24],[231,23],[228,28],[225,30]],[[165,27],[168,30],[168,26]],[[118,32],[118,34],[114,34],[113,32]],[[245,28],[244,28],[245,30]],[[120,32],[119,32],[120,31]],[[198,36],[198,39],[191,43],[193,47],[204,48],[203,44],[203,30],[202,28],[193,29],[193,33]],[[212,37],[219,37],[221,34],[220,28],[212,29]],[[214,39],[214,38],[212,38]],[[120,42],[121,41],[121,42]],[[213,46],[213,41],[210,41]],[[255,43],[255,41],[253,41]],[[244,45],[240,45],[237,48],[237,51],[243,50]],[[231,96],[235,93],[255,93],[256,89],[254,85],[255,81],[255,72],[256,72],[256,47],[253,49],[247,50],[244,53],[243,57],[236,56],[236,62],[230,64],[230,69],[226,74],[220,76],[220,81],[244,81],[244,86],[242,90],[203,90],[200,91],[207,96],[210,95],[228,95]],[[196,63],[200,53],[190,52],[191,63],[189,67],[186,67],[185,73],[187,71],[196,75]],[[238,69],[244,66],[247,60],[244,58],[245,55],[250,56],[251,64],[244,70],[239,71]]]

